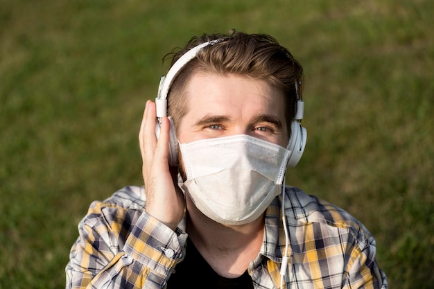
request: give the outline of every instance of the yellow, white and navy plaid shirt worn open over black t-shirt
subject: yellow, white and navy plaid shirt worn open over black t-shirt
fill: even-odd
[[[185,256],[187,234],[148,215],[145,202],[144,188],[128,186],[104,202],[92,203],[78,225],[66,288],[166,286]],[[388,288],[376,263],[375,240],[358,220],[293,187],[286,187],[285,204],[286,288]],[[280,286],[285,250],[280,216],[281,196],[266,211],[263,244],[248,268],[254,288]]]

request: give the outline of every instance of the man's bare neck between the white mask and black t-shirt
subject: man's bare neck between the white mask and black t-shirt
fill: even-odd
[[[189,209],[186,232],[203,258],[220,276],[239,277],[259,253],[263,241],[263,216],[247,225],[226,226]]]

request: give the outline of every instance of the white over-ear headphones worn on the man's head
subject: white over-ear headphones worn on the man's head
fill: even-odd
[[[161,126],[161,119],[164,116],[167,116],[167,94],[168,89],[171,87],[173,78],[177,75],[177,73],[184,67],[184,65],[189,62],[191,59],[196,57],[196,54],[200,49],[204,48],[208,45],[213,45],[218,42],[225,41],[224,39],[219,40],[211,40],[209,42],[205,42],[199,44],[193,49],[190,49],[184,55],[182,55],[169,69],[166,76],[162,76],[159,82],[159,89],[157,98],[155,98],[155,105],[157,107],[157,122],[155,124],[155,134],[157,138],[159,137],[159,131]],[[304,148],[306,147],[306,139],[307,132],[306,128],[302,127],[302,119],[304,112],[304,102],[301,98],[299,98],[298,94],[298,84],[295,82],[295,88],[297,90],[297,114],[295,114],[294,120],[291,121],[291,137],[288,141],[288,146],[286,147],[290,150],[290,157],[288,159],[288,166],[294,167],[297,165],[298,161],[303,155]],[[168,117],[171,121],[171,130],[170,130],[170,141],[169,141],[169,152],[168,152],[168,162],[171,166],[177,165],[177,138],[175,133],[175,126],[173,124],[173,119],[171,116]]]

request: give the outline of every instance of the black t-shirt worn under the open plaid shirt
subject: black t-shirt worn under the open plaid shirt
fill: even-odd
[[[184,261],[176,265],[168,279],[167,288],[253,289],[253,283],[247,271],[237,278],[221,277],[187,238],[186,256]]]

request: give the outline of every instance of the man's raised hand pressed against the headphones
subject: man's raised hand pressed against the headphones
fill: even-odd
[[[162,119],[155,137],[155,103],[148,100],[141,122],[139,143],[146,189],[146,211],[175,231],[184,216],[184,195],[177,186],[177,167],[168,165],[170,121]]]

